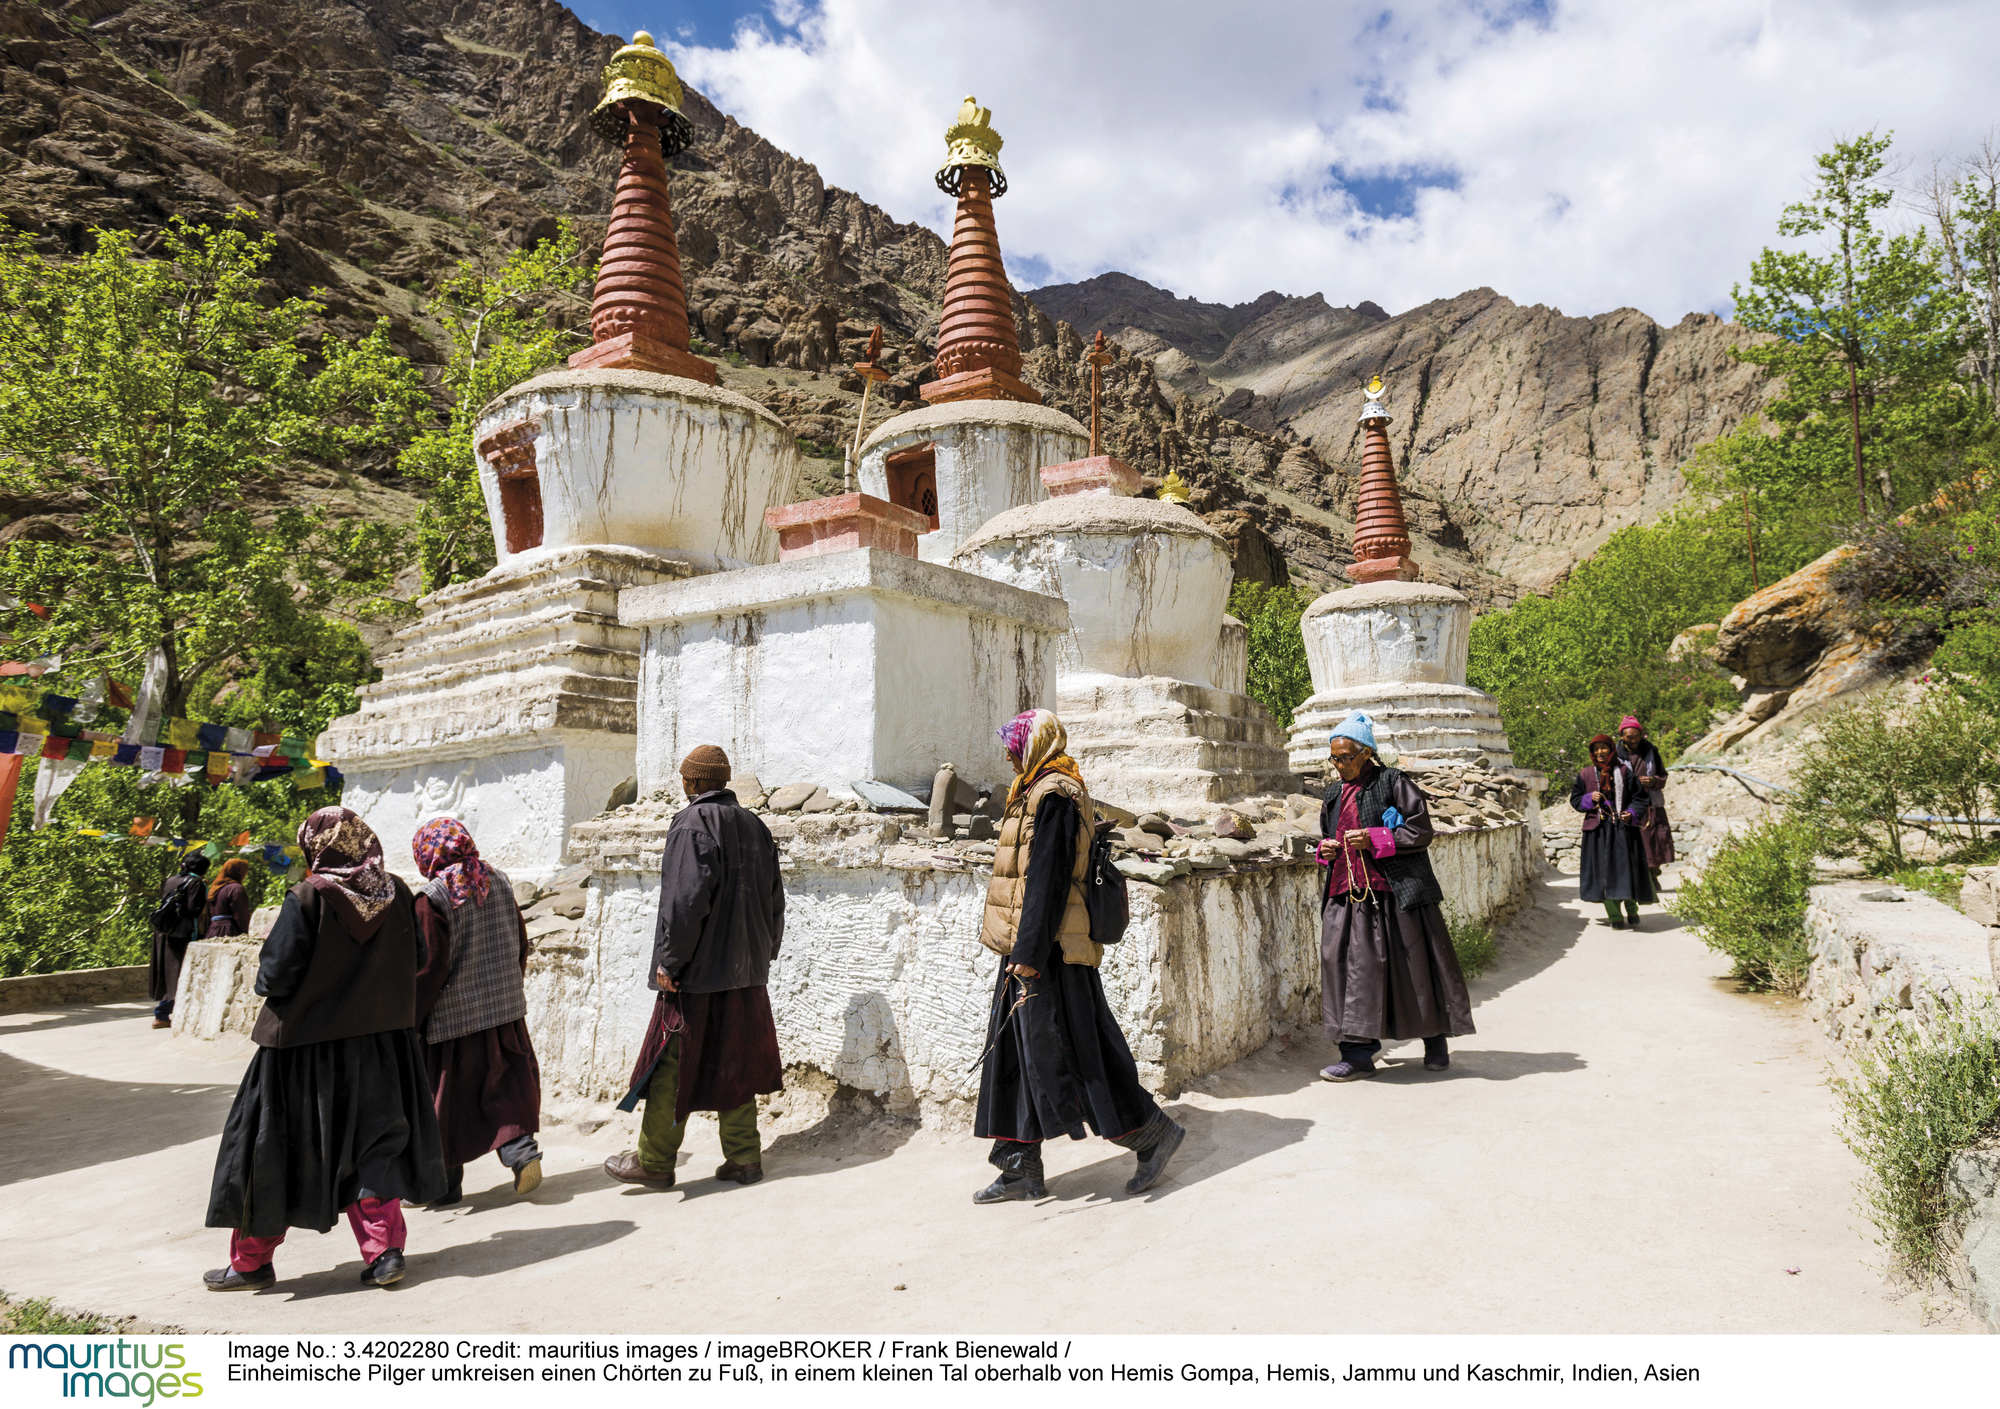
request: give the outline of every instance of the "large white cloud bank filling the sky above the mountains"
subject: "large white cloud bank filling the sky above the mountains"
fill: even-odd
[[[782,4],[776,32],[674,48],[682,76],[944,234],[932,172],[978,94],[1016,282],[1116,268],[1392,312],[1480,284],[1570,314],[1726,308],[1836,138],[1894,128],[1924,162],[1976,142],[2000,48],[1978,0]]]

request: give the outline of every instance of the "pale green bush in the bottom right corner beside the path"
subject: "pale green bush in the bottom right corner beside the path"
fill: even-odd
[[[1948,1003],[1928,1035],[1898,1023],[1834,1093],[1884,1247],[1912,1275],[1940,1277],[1960,1211],[1946,1187],[1952,1157],[2000,1125],[2000,1009]]]

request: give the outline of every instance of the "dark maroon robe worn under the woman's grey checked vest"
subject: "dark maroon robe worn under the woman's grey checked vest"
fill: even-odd
[[[520,967],[528,967],[528,925],[520,925]],[[416,1031],[452,975],[452,931],[428,895],[416,897],[416,931],[424,937],[424,967],[416,975]],[[542,1129],[542,1065],[534,1059],[528,1019],[424,1043],[430,1099],[446,1167],[470,1165],[508,1141]]]

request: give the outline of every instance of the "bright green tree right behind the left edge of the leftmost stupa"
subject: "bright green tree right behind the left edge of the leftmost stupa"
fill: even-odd
[[[588,310],[582,290],[594,278],[576,230],[564,220],[556,238],[530,250],[506,256],[486,250],[460,260],[432,290],[426,310],[452,340],[444,366],[450,410],[398,462],[404,474],[430,486],[416,524],[426,592],[492,566],[474,420],[488,400],[582,344],[572,324]]]

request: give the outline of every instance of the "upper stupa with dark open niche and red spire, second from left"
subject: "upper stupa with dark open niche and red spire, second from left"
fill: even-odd
[[[938,186],[958,198],[938,320],[930,402],[882,422],[860,450],[860,488],[926,512],[926,562],[950,562],[966,538],[1008,508],[1048,498],[1038,470],[1086,454],[1090,436],[1020,380],[1014,294],[992,202],[1006,194],[992,112],[966,98],[946,128]]]

